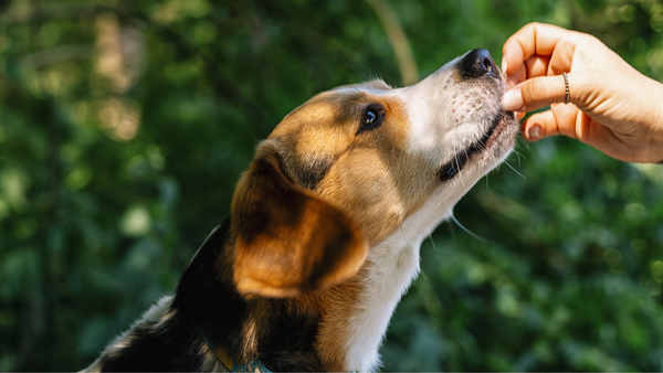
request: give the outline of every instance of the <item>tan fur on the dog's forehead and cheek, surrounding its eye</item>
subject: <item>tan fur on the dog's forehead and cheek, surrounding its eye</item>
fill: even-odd
[[[316,192],[358,223],[373,245],[425,201],[434,188],[425,181],[435,168],[427,158],[404,157],[409,121],[402,103],[360,90],[365,86],[381,85],[323,93],[286,116],[270,139],[283,149],[294,179],[312,154],[335,160]],[[380,130],[355,136],[368,103],[385,106],[385,122]]]

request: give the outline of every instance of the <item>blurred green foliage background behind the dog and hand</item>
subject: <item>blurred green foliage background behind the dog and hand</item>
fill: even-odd
[[[663,78],[661,0],[0,1],[0,370],[96,359],[314,94],[476,47],[499,65],[530,21]],[[481,239],[425,241],[382,371],[663,370],[663,166],[561,137],[508,164],[455,207]]]

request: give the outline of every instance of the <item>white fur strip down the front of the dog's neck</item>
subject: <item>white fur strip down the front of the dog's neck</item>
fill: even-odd
[[[327,315],[319,340],[340,333],[346,335],[340,354],[349,371],[373,371],[380,364],[378,350],[389,320],[412,280],[419,274],[419,249],[422,241],[452,213],[457,200],[433,195],[400,230],[371,247],[361,277],[361,290],[354,307],[340,308],[347,313]]]

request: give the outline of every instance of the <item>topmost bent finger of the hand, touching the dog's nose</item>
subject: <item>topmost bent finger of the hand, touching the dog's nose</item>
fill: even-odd
[[[532,56],[550,57],[557,43],[570,32],[551,24],[528,23],[524,25],[504,43],[502,49],[502,58],[506,61],[504,73],[515,74]]]

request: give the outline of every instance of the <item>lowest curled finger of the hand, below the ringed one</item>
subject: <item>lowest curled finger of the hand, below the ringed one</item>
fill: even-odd
[[[578,128],[578,125],[585,125],[578,118],[578,107],[575,105],[554,104],[550,110],[527,118],[522,126],[523,137],[528,141],[557,135],[578,138],[578,135],[582,136],[582,128]]]

